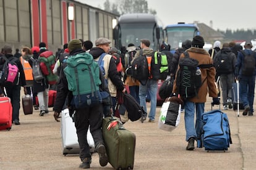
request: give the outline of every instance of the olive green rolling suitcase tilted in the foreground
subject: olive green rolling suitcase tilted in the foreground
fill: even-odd
[[[135,134],[122,126],[115,117],[106,117],[102,123],[103,139],[108,161],[115,169],[133,169]]]

